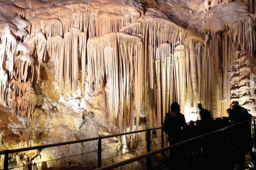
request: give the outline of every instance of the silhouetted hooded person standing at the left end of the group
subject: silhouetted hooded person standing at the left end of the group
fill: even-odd
[[[184,133],[187,132],[187,124],[183,114],[181,114],[179,104],[173,102],[171,111],[166,113],[163,129],[168,134],[170,145],[184,140]],[[183,169],[182,151],[173,148],[170,150],[170,169]]]

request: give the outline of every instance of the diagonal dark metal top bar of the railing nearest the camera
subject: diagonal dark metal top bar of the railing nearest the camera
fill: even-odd
[[[197,140],[197,139],[201,139],[201,138],[204,138],[204,137],[213,135],[213,134],[215,134],[215,133],[218,133],[218,132],[220,132],[220,131],[224,131],[224,130],[226,130],[226,129],[229,129],[229,128],[232,128],[232,127],[235,127],[235,126],[239,126],[240,124],[243,124],[243,123],[245,123],[245,122],[249,122],[249,121],[252,121],[252,120],[255,120],[255,118],[251,118],[251,119],[249,119],[249,120],[245,120],[245,121],[243,121],[243,122],[239,122],[239,123],[236,123],[236,124],[227,126],[227,127],[225,127],[225,128],[221,128],[221,129],[218,129],[218,130],[215,130],[215,131],[206,133],[206,134],[204,134],[204,135],[200,135],[200,136],[197,136],[197,137],[188,139],[188,140],[186,140],[186,141],[182,141],[182,142],[176,143],[176,144],[174,144],[174,145],[166,146],[166,147],[164,147],[164,148],[161,148],[161,149],[158,149],[158,150],[155,150],[155,151],[152,151],[152,152],[148,152],[148,153],[146,153],[146,154],[142,154],[142,155],[140,155],[140,156],[136,156],[136,157],[130,158],[130,159],[128,159],[128,160],[124,160],[124,161],[121,161],[121,162],[113,163],[113,164],[111,164],[111,165],[107,165],[107,166],[98,168],[98,169],[96,169],[96,170],[114,169],[114,168],[117,168],[117,167],[126,165],[126,164],[128,164],[128,163],[132,163],[132,162],[135,162],[135,161],[144,159],[144,158],[149,158],[149,157],[152,156],[152,155],[159,154],[159,153],[164,152],[164,151],[166,151],[166,150],[169,150],[169,149],[171,149],[171,148],[174,148],[174,147],[177,147],[177,146],[180,146],[180,145],[187,144],[187,143],[189,143],[189,142],[191,142],[191,141],[195,141],[195,140]]]

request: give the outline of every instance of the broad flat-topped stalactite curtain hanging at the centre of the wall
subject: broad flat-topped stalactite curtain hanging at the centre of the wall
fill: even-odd
[[[98,48],[92,48],[95,46]],[[136,127],[138,128],[143,86],[141,83],[138,83],[134,85],[133,92],[129,91],[129,89],[132,87],[131,82],[134,81],[134,76],[139,78],[139,76],[141,76],[140,74],[144,72],[144,68],[139,67],[141,66],[141,63],[144,62],[143,55],[141,54],[143,49],[140,39],[126,33],[104,34],[102,36],[90,38],[88,40],[87,49],[89,84],[92,85],[92,82],[95,81],[96,86],[99,87],[99,83],[102,81],[104,75],[104,70],[106,71],[107,87],[109,87],[106,93],[109,98],[110,120],[113,121],[113,118],[117,117],[118,112],[121,111],[119,114],[122,114],[123,110],[119,111],[118,109],[121,104],[120,100],[127,102],[125,102],[121,108],[128,107],[127,109],[130,113],[127,114],[127,109],[125,109],[127,117],[124,119],[129,119],[128,117],[133,114],[133,107],[129,109],[131,107],[129,101],[131,100],[132,93],[134,93],[134,100],[137,104],[135,108],[137,113]],[[97,49],[97,51],[95,49]],[[123,65],[127,66],[124,70]],[[120,70],[119,73],[118,70]],[[121,86],[119,86],[118,77],[121,80]],[[122,96],[126,96],[125,99],[120,98],[119,100],[120,93]]]

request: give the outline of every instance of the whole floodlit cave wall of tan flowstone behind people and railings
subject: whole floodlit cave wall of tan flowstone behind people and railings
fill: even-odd
[[[1,150],[161,127],[174,101],[187,122],[199,118],[198,103],[213,118],[235,101],[256,116],[253,1],[1,0],[0,8]],[[106,139],[102,146],[116,147],[103,157],[143,148],[144,139]],[[10,159],[27,165],[96,148],[94,141]]]

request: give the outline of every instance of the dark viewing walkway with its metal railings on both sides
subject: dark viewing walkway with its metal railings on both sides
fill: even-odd
[[[219,128],[219,129],[216,129]],[[23,167],[24,169],[32,170],[33,166],[41,163],[42,170],[44,169],[169,169],[168,159],[169,155],[172,154],[173,150],[178,150],[182,154],[182,162],[184,170],[187,169],[245,169],[253,167],[254,152],[253,149],[255,145],[255,118],[246,120],[231,126],[226,127],[215,127],[214,131],[206,134],[202,134],[180,143],[176,143],[171,146],[167,146],[167,135],[163,132],[162,127],[145,129],[134,132],[121,133],[116,135],[100,136],[96,138],[83,139],[78,141],[70,141],[63,143],[56,143],[50,145],[33,146],[28,148],[20,148],[14,150],[4,150],[0,152],[0,155],[5,155],[4,157],[4,170],[7,169],[19,169]],[[115,155],[112,157],[106,157],[105,150],[110,148],[122,148],[121,145],[135,145],[138,144],[139,140],[125,143],[117,146],[104,146],[104,140],[110,139],[112,137],[121,137],[126,135],[134,134],[135,136],[146,136],[146,145],[144,148],[138,148],[137,150],[125,151],[123,154]],[[160,135],[158,135],[160,134]],[[157,136],[158,135],[158,136]],[[92,150],[91,152],[72,154],[70,153],[69,158],[73,156],[79,156],[82,154],[88,155],[88,163],[84,165],[69,165],[63,167],[47,167],[48,162],[57,162],[67,157],[57,158],[54,160],[46,160],[44,162],[35,162],[29,165],[15,165],[11,162],[12,155],[18,152],[28,152],[31,150],[38,150],[41,152],[46,148],[59,147],[59,146],[69,146],[74,144],[82,144],[86,142],[98,142],[98,148]],[[155,141],[160,141],[156,143]],[[78,151],[79,152],[79,151]],[[129,159],[118,161],[123,158],[130,157],[135,152],[137,156],[131,157]],[[141,153],[141,154],[140,154]],[[140,154],[140,155],[139,155]],[[96,156],[98,159],[94,160],[92,155]],[[124,155],[129,155],[124,157]],[[135,154],[134,154],[135,155]],[[91,156],[91,157],[90,157]],[[246,159],[245,159],[246,156]],[[89,159],[91,158],[91,159]],[[246,161],[246,162],[245,162]],[[2,160],[1,160],[1,163]],[[109,163],[109,164],[108,164]]]

